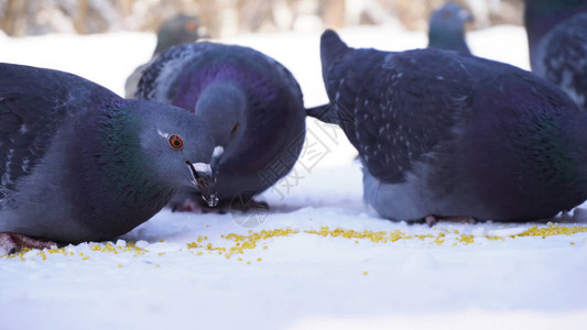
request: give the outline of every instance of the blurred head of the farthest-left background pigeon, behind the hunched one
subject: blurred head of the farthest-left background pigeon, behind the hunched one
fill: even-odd
[[[206,31],[200,25],[197,16],[175,15],[163,22],[159,28],[154,55],[159,55],[172,46],[193,43],[206,36]]]

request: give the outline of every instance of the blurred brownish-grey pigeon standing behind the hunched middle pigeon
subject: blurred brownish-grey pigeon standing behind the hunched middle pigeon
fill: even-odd
[[[207,32],[202,26],[197,16],[187,14],[177,14],[164,21],[157,31],[157,44],[151,63],[161,53],[167,51],[171,46],[195,42],[199,38],[207,37]],[[137,91],[137,85],[141,79],[142,70],[149,65],[145,63],[134,69],[124,82],[124,96],[132,98]]]

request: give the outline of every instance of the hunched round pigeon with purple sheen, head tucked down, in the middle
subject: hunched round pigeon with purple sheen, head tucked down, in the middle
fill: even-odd
[[[253,197],[292,169],[304,143],[306,113],[295,78],[249,47],[174,46],[143,72],[135,97],[183,108],[210,128],[220,209],[261,206]],[[182,199],[172,207],[181,209]]]

